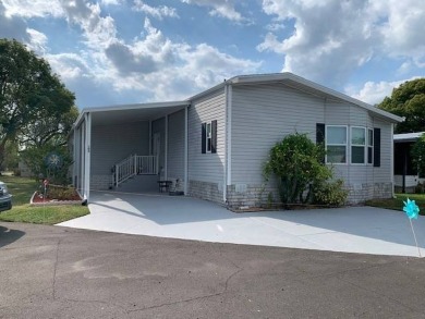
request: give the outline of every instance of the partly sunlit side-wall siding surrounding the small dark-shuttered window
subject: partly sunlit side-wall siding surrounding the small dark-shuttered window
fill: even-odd
[[[217,120],[217,154],[202,154],[202,123]],[[224,89],[194,100],[189,108],[189,180],[222,186],[226,154]]]

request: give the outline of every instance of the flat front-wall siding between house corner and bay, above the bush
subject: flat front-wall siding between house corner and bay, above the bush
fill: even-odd
[[[288,134],[316,138],[324,100],[284,85],[233,86],[232,184],[262,184],[270,148]]]

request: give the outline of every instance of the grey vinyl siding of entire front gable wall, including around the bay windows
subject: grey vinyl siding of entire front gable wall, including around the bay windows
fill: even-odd
[[[284,85],[233,86],[231,184],[263,184],[262,168],[270,148],[286,135],[306,133],[315,140],[316,124],[347,127],[345,164],[329,164],[351,189],[390,183],[391,124],[359,106],[323,99]],[[351,164],[351,127],[381,130],[380,167]],[[326,138],[326,136],[325,136]],[[362,145],[367,162],[368,144]],[[373,151],[373,150],[372,150]],[[369,186],[367,186],[369,187]],[[373,196],[373,186],[368,188]]]

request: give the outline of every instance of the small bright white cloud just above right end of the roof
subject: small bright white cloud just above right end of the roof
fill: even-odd
[[[377,105],[380,103],[385,97],[390,97],[393,88],[399,87],[406,81],[412,81],[415,78],[418,77],[415,76],[393,82],[366,82],[360,89],[351,86],[345,87],[345,93],[351,97],[364,101],[366,103]]]

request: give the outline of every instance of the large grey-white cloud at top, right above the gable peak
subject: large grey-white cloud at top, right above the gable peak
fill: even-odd
[[[264,0],[263,9],[282,22],[294,21],[294,32],[279,39],[268,33],[259,51],[283,56],[283,71],[336,86],[366,63],[379,42],[371,33],[374,20],[360,1]]]

